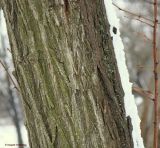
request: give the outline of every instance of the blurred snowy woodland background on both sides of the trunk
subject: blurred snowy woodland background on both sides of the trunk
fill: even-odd
[[[121,37],[125,47],[126,63],[130,74],[130,81],[133,83],[133,94],[141,118],[142,137],[145,147],[151,148],[153,143],[153,101],[151,100],[151,94],[154,92],[153,28],[149,25],[152,22],[143,20],[142,16],[153,20],[153,3],[150,0],[113,0],[113,2],[119,8],[136,13],[139,16],[136,17],[115,7],[117,15],[120,18]],[[160,1],[158,6],[160,8]],[[160,24],[158,25],[158,39],[160,39]],[[160,42],[158,42],[158,50],[160,50],[159,47]],[[14,67],[10,50],[5,20],[1,11],[0,147],[11,143],[23,143],[28,146],[27,132],[24,126],[24,114],[22,113],[20,94],[16,88],[17,83],[14,78]],[[160,71],[160,66],[158,71]]]

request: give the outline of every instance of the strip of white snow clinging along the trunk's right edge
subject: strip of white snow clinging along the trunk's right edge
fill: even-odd
[[[129,74],[125,62],[124,46],[119,32],[119,19],[116,16],[112,0],[104,0],[108,21],[110,24],[111,36],[113,36],[113,46],[116,54],[118,69],[121,77],[122,86],[125,92],[124,102],[126,116],[130,116],[133,125],[132,137],[134,148],[144,148],[143,139],[140,130],[140,118],[138,116],[137,106],[134,96],[132,95],[132,84],[129,82]],[[112,29],[117,28],[117,34],[114,34]]]

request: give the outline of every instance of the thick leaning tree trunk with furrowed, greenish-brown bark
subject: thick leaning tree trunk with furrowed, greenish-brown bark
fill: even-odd
[[[130,148],[103,0],[2,0],[31,148]]]

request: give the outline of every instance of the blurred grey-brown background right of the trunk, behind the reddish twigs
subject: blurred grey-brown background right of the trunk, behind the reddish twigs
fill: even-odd
[[[144,0],[135,1],[120,1],[114,0],[114,3],[119,7],[144,16],[153,20],[153,2]],[[158,2],[158,8],[159,8]],[[133,9],[134,8],[134,9]],[[144,9],[145,8],[145,9]],[[153,75],[153,60],[152,60],[152,32],[153,27],[142,23],[136,17],[119,11],[117,14],[121,17],[121,33],[125,45],[127,66],[130,74],[130,81],[154,94],[154,75]],[[158,19],[160,16],[158,16]],[[150,21],[147,23],[152,24]],[[125,27],[123,27],[125,26]],[[158,25],[159,27],[159,25]],[[157,30],[157,38],[160,38],[160,32]],[[159,44],[157,42],[158,50]],[[158,66],[159,68],[159,66]],[[135,100],[137,101],[139,115],[141,117],[142,137],[146,148],[151,148],[153,143],[153,101],[147,96],[139,96],[135,93]],[[160,135],[159,135],[160,140]],[[160,148],[160,145],[159,145]]]

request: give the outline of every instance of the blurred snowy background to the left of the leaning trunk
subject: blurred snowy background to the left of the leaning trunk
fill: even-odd
[[[25,144],[27,148],[24,114],[13,73],[5,19],[0,10],[0,148],[4,148],[5,144]]]

